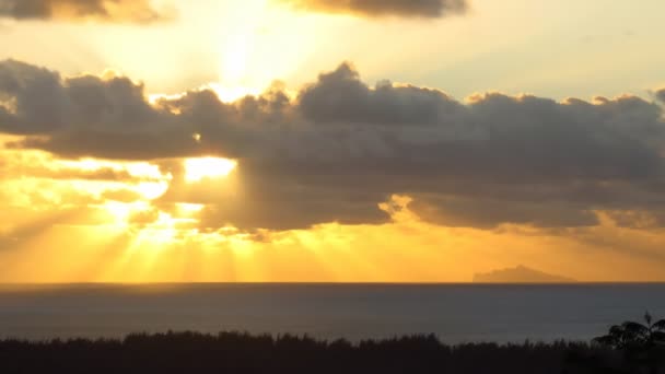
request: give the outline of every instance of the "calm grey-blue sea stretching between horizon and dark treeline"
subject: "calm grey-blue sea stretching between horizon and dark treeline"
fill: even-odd
[[[665,284],[0,285],[0,338],[240,330],[353,341],[588,340],[646,309],[665,318]]]

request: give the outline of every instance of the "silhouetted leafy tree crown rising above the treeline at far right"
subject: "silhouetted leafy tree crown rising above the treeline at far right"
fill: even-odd
[[[595,338],[594,342],[617,350],[643,350],[665,344],[665,319],[653,323],[651,314],[646,312],[644,322],[646,324],[629,320],[621,325],[614,325],[607,335]]]

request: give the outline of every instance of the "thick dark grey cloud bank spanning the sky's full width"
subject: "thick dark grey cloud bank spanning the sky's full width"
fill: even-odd
[[[10,60],[0,63],[0,131],[22,137],[13,148],[237,160],[238,195],[196,190],[172,171],[163,202],[206,203],[206,227],[385,222],[377,206],[393,195],[453,226],[582,226],[597,223],[596,211],[625,225],[664,223],[663,107],[637,96],[458,102],[418,86],[369,86],[345,63],[295,98],[273,89],[225,104],[190,91],[150,104],[127,78],[63,78]],[[645,219],[626,219],[635,214]]]

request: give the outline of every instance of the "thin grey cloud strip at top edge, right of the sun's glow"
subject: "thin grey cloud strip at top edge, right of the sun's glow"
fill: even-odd
[[[442,17],[463,13],[466,0],[276,0],[304,11],[362,16]]]

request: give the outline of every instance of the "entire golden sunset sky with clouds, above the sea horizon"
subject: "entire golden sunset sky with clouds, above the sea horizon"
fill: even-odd
[[[664,11],[0,0],[0,282],[665,281]]]

